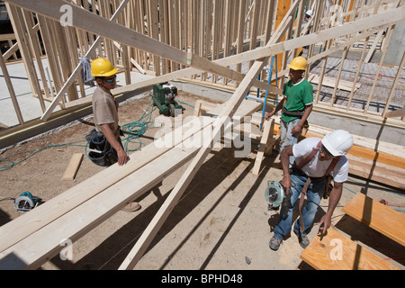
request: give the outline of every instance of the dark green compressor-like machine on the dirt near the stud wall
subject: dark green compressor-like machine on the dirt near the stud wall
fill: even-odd
[[[157,106],[159,113],[165,116],[175,116],[175,110],[183,111],[183,107],[175,102],[177,88],[168,82],[153,85],[152,100],[154,106]]]

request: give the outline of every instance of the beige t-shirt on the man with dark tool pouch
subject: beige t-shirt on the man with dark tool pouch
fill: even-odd
[[[118,106],[112,94],[106,93],[102,88],[97,87],[93,94],[93,115],[95,130],[101,132],[102,124],[109,124],[115,137],[120,137],[118,129]]]

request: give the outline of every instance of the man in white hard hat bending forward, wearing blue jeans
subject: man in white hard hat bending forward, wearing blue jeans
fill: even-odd
[[[333,187],[330,191],[329,207],[320,219],[320,226],[323,225],[321,232],[325,233],[329,229],[333,211],[342,194],[343,184],[347,181],[348,162],[345,155],[352,146],[353,137],[349,132],[334,130],[323,139],[317,137],[302,139],[299,143],[284,148],[281,154],[284,172],[281,184],[286,195],[284,198],[286,209],[280,211],[280,220],[275,226],[275,234],[269,243],[271,249],[277,250],[283,238],[290,233],[295,203],[305,184],[309,184],[306,192],[307,204],[302,210],[302,217],[295,222],[293,231],[298,236],[302,247],[305,248],[310,244],[307,235],[313,224],[320,199],[325,193],[326,178],[331,171]],[[293,169],[289,169],[289,157],[292,155],[295,157],[295,163]],[[300,204],[302,204],[301,201]]]

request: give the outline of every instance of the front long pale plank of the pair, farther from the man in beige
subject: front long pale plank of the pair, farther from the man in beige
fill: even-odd
[[[257,105],[257,103],[245,102],[239,107],[235,116],[243,117],[256,111],[258,108],[259,105]],[[202,121],[202,119],[199,121]],[[203,121],[212,124],[212,121],[207,121],[207,118],[204,118]],[[206,126],[204,130],[198,130],[198,132],[194,133],[194,138],[202,139],[203,136],[207,135],[207,132],[209,134],[212,130],[211,124]],[[190,122],[189,124],[185,124],[185,126],[194,127],[196,125]],[[63,248],[60,247],[61,241],[69,239],[75,242],[78,238],[85,235],[87,231],[94,229],[94,227],[103,220],[106,220],[113,213],[120,210],[125,203],[133,201],[139,198],[143,193],[148,192],[153,186],[175,171],[179,166],[184,165],[186,161],[190,160],[190,158],[195,155],[199,146],[195,145],[196,142],[193,137],[187,137],[189,132],[190,130],[185,130],[184,133],[182,131],[177,133],[180,135],[183,134],[185,138],[184,141],[179,143],[175,148],[167,150],[166,153],[149,161],[148,164],[140,167],[132,174],[123,178],[120,182],[112,184],[102,193],[94,194],[94,197],[87,199],[74,209],[61,213],[58,219],[49,222],[48,225],[37,229],[26,238],[21,239],[13,246],[5,249],[0,253],[0,269],[38,268],[49,258],[58,254],[58,251]],[[172,139],[172,133],[167,135],[167,139]],[[139,151],[139,155],[150,157],[149,154],[153,149],[157,149],[155,144],[149,144],[147,148]],[[139,160],[139,157],[136,160]],[[106,169],[104,171],[108,172],[108,170],[109,169]],[[102,174],[103,172],[92,178],[100,181],[99,175]],[[137,188],[134,189],[134,187]],[[82,188],[84,187],[82,186]],[[85,189],[92,189],[92,187],[87,186]],[[85,190],[82,189],[82,193],[85,193]],[[54,204],[55,202],[53,205]],[[36,209],[39,208],[40,206]],[[63,209],[59,204],[59,209],[61,208]],[[32,210],[30,213],[34,211],[35,210]],[[18,220],[18,218],[16,220]],[[34,218],[33,220],[40,219]],[[13,238],[14,235],[8,234],[8,237]],[[41,239],[46,239],[46,241]]]

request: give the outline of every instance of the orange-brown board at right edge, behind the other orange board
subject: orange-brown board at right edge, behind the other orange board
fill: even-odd
[[[405,215],[364,193],[356,193],[342,211],[372,229],[405,246]]]

